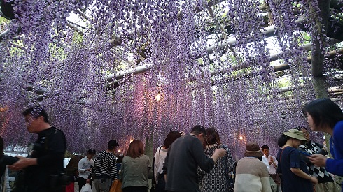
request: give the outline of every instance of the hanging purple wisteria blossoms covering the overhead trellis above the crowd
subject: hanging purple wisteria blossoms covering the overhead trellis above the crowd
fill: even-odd
[[[213,57],[207,53],[207,1],[15,0],[16,19],[6,24],[10,32],[0,43],[0,135],[13,147],[34,140],[20,112],[39,103],[51,124],[66,133],[71,152],[104,149],[111,139],[122,152],[133,138],[153,138],[156,148],[169,131],[189,132],[195,124],[218,128],[237,158],[248,141],[274,146],[276,152],[282,131],[306,126],[301,108],[314,99],[314,90],[298,42],[296,5],[267,3],[283,52],[280,62],[290,65],[290,85],[296,88],[291,97],[279,89],[270,66],[260,1],[213,6],[224,10],[237,40],[233,48],[214,50]],[[303,15],[315,10],[315,3],[297,3]],[[88,10],[78,33],[66,27],[76,10]],[[316,23],[307,24],[311,29]],[[220,27],[215,32],[220,34]],[[228,36],[216,36],[222,38]],[[143,65],[152,67],[109,88],[108,75]],[[237,70],[239,65],[244,68]],[[43,100],[37,99],[38,90]]]

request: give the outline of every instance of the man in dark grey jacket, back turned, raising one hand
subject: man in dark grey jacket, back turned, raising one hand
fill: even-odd
[[[223,148],[215,149],[209,157],[204,153],[207,140],[204,126],[193,126],[190,134],[177,138],[168,149],[163,172],[167,191],[200,191],[197,168],[205,172],[214,168],[219,158],[226,155]]]

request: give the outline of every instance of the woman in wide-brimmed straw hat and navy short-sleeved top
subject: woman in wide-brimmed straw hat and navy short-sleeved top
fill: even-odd
[[[304,133],[297,129],[283,132],[277,145],[282,147],[277,153],[279,166],[277,173],[281,176],[281,189],[283,192],[313,192],[313,184],[318,183],[316,177],[311,177],[306,163],[300,156],[297,147],[304,138]]]

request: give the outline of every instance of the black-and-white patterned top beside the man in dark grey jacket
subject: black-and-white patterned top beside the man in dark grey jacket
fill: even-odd
[[[200,189],[202,192],[228,192],[231,186],[232,179],[230,179],[229,172],[235,169],[235,161],[232,158],[230,149],[227,145],[209,145],[205,149],[207,156],[212,156],[214,150],[217,148],[224,148],[227,155],[219,158],[214,168],[210,172],[205,172],[198,168]]]

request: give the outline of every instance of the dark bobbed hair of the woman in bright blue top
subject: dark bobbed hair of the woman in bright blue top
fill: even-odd
[[[330,98],[319,98],[302,108],[302,112],[311,115],[316,126],[328,125],[333,128],[338,121],[343,120],[343,112]]]

